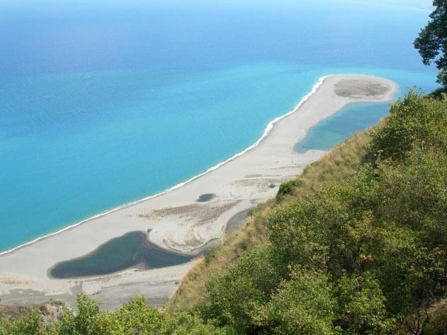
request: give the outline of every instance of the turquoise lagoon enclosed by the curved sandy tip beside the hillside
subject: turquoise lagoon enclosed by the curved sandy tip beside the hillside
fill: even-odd
[[[389,110],[389,103],[349,103],[312,127],[306,137],[295,144],[294,150],[299,154],[307,150],[330,150],[356,132],[378,123]]]

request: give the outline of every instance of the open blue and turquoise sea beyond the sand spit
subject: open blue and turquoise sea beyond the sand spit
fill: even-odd
[[[434,89],[412,47],[424,6],[0,1],[0,250],[232,157],[320,76]],[[376,114],[328,122],[338,135],[306,145],[330,147],[347,136],[336,127]]]

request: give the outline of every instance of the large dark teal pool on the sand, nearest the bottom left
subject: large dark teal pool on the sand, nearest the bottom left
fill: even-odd
[[[52,278],[99,276],[137,265],[148,269],[174,266],[192,258],[160,249],[147,240],[145,232],[128,232],[98,246],[90,254],[57,263],[49,274]]]

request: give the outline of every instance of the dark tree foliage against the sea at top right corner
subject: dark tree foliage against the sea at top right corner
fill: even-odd
[[[434,60],[439,69],[438,82],[447,85],[447,3],[434,0],[433,5],[431,20],[414,40],[414,47],[419,50],[424,64],[429,65]]]

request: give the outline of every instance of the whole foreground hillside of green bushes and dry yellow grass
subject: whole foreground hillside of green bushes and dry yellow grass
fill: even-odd
[[[390,117],[281,186],[164,310],[85,295],[0,334],[446,334],[447,96]]]

